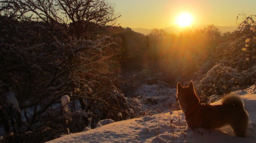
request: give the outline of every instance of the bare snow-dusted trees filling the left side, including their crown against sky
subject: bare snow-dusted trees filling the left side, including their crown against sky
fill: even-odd
[[[112,79],[119,41],[90,39],[118,17],[107,0],[0,0],[1,142],[45,142],[119,113],[129,118]],[[60,105],[66,95],[68,113]]]

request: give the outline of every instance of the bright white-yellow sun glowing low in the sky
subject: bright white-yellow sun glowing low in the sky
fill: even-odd
[[[192,15],[189,13],[180,14],[176,20],[176,24],[178,24],[180,27],[190,26],[192,22],[193,22],[193,18],[192,18]]]

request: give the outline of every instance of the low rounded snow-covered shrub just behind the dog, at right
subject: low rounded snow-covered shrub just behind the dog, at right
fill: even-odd
[[[196,86],[196,92],[202,100],[212,95],[224,95],[236,90],[246,88],[256,80],[256,66],[238,72],[230,67],[214,66],[207,72]],[[209,98],[212,100],[211,98]],[[210,102],[210,101],[209,101]]]

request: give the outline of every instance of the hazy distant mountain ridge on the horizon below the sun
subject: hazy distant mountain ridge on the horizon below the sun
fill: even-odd
[[[195,25],[193,27],[198,28],[198,29],[203,29],[204,27],[207,27],[208,25]],[[214,25],[216,28],[218,28],[221,33],[225,33],[225,32],[233,32],[235,30],[238,29],[237,25],[230,25],[230,26],[216,26]],[[138,32],[138,33],[142,33],[144,35],[148,35],[151,31],[151,29],[146,29],[146,28],[132,28],[133,31]],[[182,28],[178,27],[178,26],[170,26],[170,27],[166,27],[164,28],[164,30],[168,33],[178,33],[179,31],[182,30]]]

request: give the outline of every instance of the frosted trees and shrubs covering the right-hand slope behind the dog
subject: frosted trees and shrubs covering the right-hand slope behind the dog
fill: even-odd
[[[255,25],[251,20],[246,18],[240,25],[241,30],[233,32],[235,36],[238,35],[235,39],[214,48],[211,57],[201,67],[202,70],[194,74],[196,76],[193,81],[198,85],[196,92],[202,100],[214,94],[223,95],[241,90],[255,83],[256,48],[255,42],[248,39],[255,35],[252,29]]]

